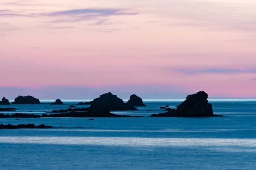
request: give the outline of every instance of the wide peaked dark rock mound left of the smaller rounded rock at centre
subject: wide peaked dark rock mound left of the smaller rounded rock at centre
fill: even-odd
[[[134,106],[127,105],[124,101],[113,95],[111,92],[100,95],[91,102],[80,102],[77,105],[90,105],[89,110],[93,111],[128,111],[138,110]]]

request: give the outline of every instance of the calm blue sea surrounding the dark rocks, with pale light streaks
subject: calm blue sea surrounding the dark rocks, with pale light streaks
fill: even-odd
[[[11,107],[19,110],[14,113],[42,114],[76,102],[66,103]],[[256,102],[211,103],[225,117],[0,118],[0,124],[65,127],[0,130],[0,169],[255,170]],[[160,106],[175,108],[180,102],[145,104],[139,111],[112,113],[149,116],[163,113]]]

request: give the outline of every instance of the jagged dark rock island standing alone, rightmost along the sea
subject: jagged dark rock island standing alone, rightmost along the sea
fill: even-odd
[[[152,114],[150,117],[215,117],[222,116],[213,114],[212,104],[208,103],[208,94],[199,91],[196,94],[188,95],[186,100],[177,106],[177,109],[170,109],[166,113]]]

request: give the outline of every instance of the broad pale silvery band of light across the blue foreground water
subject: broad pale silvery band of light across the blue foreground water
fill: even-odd
[[[217,138],[135,138],[135,137],[39,137],[1,136],[0,143],[13,144],[83,144],[105,146],[211,146],[256,147],[256,139]]]

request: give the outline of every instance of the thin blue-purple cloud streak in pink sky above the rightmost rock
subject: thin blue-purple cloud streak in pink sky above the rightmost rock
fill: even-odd
[[[250,69],[236,69],[236,68],[204,68],[204,69],[193,69],[193,68],[175,68],[175,72],[179,72],[186,75],[194,74],[236,74],[236,73],[256,73],[255,68]]]

